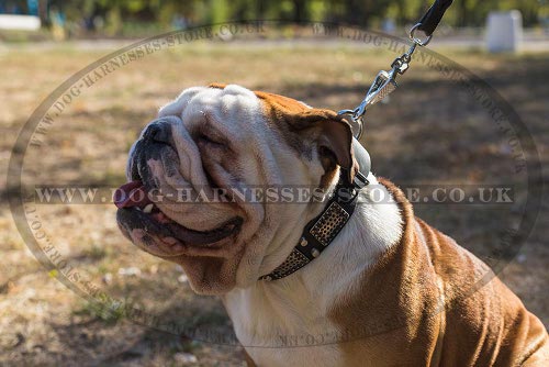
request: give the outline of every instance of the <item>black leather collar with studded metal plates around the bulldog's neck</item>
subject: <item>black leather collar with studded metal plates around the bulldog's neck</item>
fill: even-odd
[[[290,256],[274,270],[260,277],[259,280],[281,279],[301,269],[318,257],[347,224],[357,205],[360,189],[369,184],[367,177],[370,171],[368,152],[355,138],[352,146],[355,158],[360,166],[360,171],[355,176],[354,182],[349,182],[347,171],[341,169],[339,181],[322,213],[305,225],[301,238]]]

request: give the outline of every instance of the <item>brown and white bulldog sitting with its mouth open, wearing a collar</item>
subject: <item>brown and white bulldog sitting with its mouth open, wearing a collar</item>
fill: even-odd
[[[187,89],[130,152],[119,226],[219,294],[258,366],[548,366],[542,323],[360,167],[352,140],[341,116],[290,98]],[[245,190],[266,187],[314,194]]]

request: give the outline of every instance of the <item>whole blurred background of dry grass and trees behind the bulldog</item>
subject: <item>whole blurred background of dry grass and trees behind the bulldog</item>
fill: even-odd
[[[31,184],[119,187],[127,151],[158,108],[182,89],[213,81],[285,94],[339,110],[363,98],[380,69],[400,56],[336,35],[313,35],[306,21],[356,25],[406,37],[430,1],[0,0],[0,365],[242,366],[237,345],[157,332],[68,290],[18,233],[5,174],[18,134],[63,81],[136,40],[227,20],[271,19],[246,37],[199,40],[147,55],[98,79],[55,118],[40,149],[29,152]],[[428,46],[474,73],[518,113],[549,160],[549,3],[545,0],[455,1]],[[362,144],[373,171],[401,186],[515,185],[526,200],[517,152],[489,111],[426,63],[412,62],[400,88],[371,109]],[[497,102],[501,104],[501,101]],[[524,153],[524,152],[523,152]],[[542,190],[548,176],[533,188]],[[415,205],[418,216],[494,265],[501,238],[520,218],[517,205]],[[232,335],[215,298],[195,296],[182,269],[132,246],[112,204],[41,205],[56,252],[98,289],[187,327]],[[500,277],[549,325],[549,211]],[[504,254],[505,255],[505,254]],[[497,268],[500,269],[500,268]],[[545,290],[544,290],[545,289]]]

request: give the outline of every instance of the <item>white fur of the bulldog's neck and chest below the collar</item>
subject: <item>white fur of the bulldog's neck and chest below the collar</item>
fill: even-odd
[[[244,346],[273,346],[288,337],[328,332],[330,307],[351,294],[357,275],[399,242],[402,235],[399,207],[394,200],[385,200],[391,196],[372,174],[368,180],[370,185],[361,190],[351,219],[314,262],[285,278],[257,281],[223,297]],[[266,353],[272,358],[277,349],[281,351],[247,349],[255,359]]]

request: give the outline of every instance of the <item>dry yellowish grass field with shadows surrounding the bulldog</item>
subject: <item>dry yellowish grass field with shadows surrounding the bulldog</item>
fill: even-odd
[[[182,340],[101,312],[54,279],[15,229],[4,177],[18,133],[61,81],[107,53],[70,45],[0,52],[0,365],[242,366],[237,346]],[[547,165],[549,54],[442,53],[512,101]],[[127,149],[141,129],[187,87],[234,82],[338,110],[354,107],[393,58],[376,49],[289,44],[203,43],[156,53],[103,78],[67,108],[40,154],[25,160],[25,174],[43,184],[116,187],[124,182]],[[505,138],[485,111],[424,65],[413,65],[389,104],[371,110],[365,135],[374,173],[400,185],[515,180]],[[501,277],[549,325],[549,208],[542,205],[527,244]],[[502,207],[418,204],[416,212],[480,256],[496,246],[508,216]],[[180,268],[132,246],[119,233],[114,213],[112,204],[40,207],[59,253],[110,296],[161,320],[231,333],[221,303],[194,296]]]

